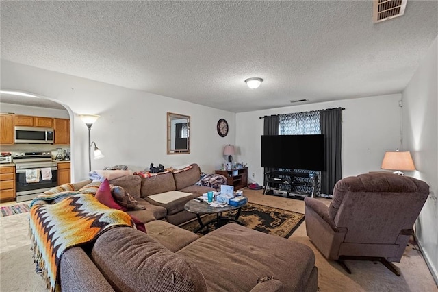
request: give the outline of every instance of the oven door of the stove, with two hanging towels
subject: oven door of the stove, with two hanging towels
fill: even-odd
[[[42,193],[57,186],[57,167],[16,169],[16,195]],[[22,193],[23,192],[23,193]]]

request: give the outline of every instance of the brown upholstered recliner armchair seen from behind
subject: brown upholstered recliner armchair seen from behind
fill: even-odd
[[[307,235],[328,260],[400,262],[413,225],[428,197],[426,182],[393,173],[367,173],[339,180],[333,202],[305,198]]]

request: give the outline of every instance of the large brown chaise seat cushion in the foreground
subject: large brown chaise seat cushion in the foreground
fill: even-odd
[[[237,244],[236,244],[237,243]],[[283,284],[283,291],[306,291],[315,265],[310,247],[291,239],[258,232],[235,223],[214,232],[179,250],[204,273],[209,291],[250,291],[257,279],[274,276]],[[242,275],[244,271],[245,276]]]

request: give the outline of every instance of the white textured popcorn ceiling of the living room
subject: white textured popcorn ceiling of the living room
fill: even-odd
[[[438,1],[377,24],[370,0],[0,5],[5,60],[232,112],[400,93],[438,35]]]

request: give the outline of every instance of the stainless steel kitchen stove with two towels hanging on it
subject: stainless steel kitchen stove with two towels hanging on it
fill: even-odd
[[[57,164],[51,152],[13,152],[16,168],[16,202],[34,199],[57,186]]]

